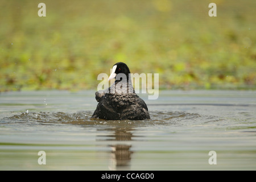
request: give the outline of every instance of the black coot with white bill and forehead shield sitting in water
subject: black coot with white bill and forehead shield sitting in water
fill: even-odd
[[[130,70],[125,63],[113,65],[109,80],[115,82],[106,90],[95,93],[98,105],[92,118],[108,120],[150,119],[146,103],[135,93],[130,78]]]

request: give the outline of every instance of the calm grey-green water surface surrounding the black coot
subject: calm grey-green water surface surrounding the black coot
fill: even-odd
[[[151,119],[104,121],[90,118],[94,91],[1,93],[0,169],[256,169],[256,92],[141,97]],[[39,151],[46,152],[45,165]],[[210,151],[217,164],[209,164]]]

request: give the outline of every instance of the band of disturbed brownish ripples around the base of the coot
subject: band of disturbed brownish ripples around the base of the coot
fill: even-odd
[[[181,111],[152,111],[151,119],[143,121],[116,120],[106,121],[103,119],[91,118],[93,111],[79,111],[77,113],[51,113],[51,112],[25,112],[15,114],[11,117],[3,118],[5,122],[38,122],[48,124],[73,124],[73,125],[191,125],[191,123],[207,123],[221,121],[220,118],[214,116],[205,116],[197,113],[185,113]]]

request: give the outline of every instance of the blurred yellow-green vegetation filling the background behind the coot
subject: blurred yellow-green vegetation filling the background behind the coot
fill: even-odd
[[[46,3],[46,17],[38,4]],[[208,5],[217,5],[210,17]],[[255,89],[256,1],[0,1],[0,92],[96,89],[118,61],[161,89]]]

